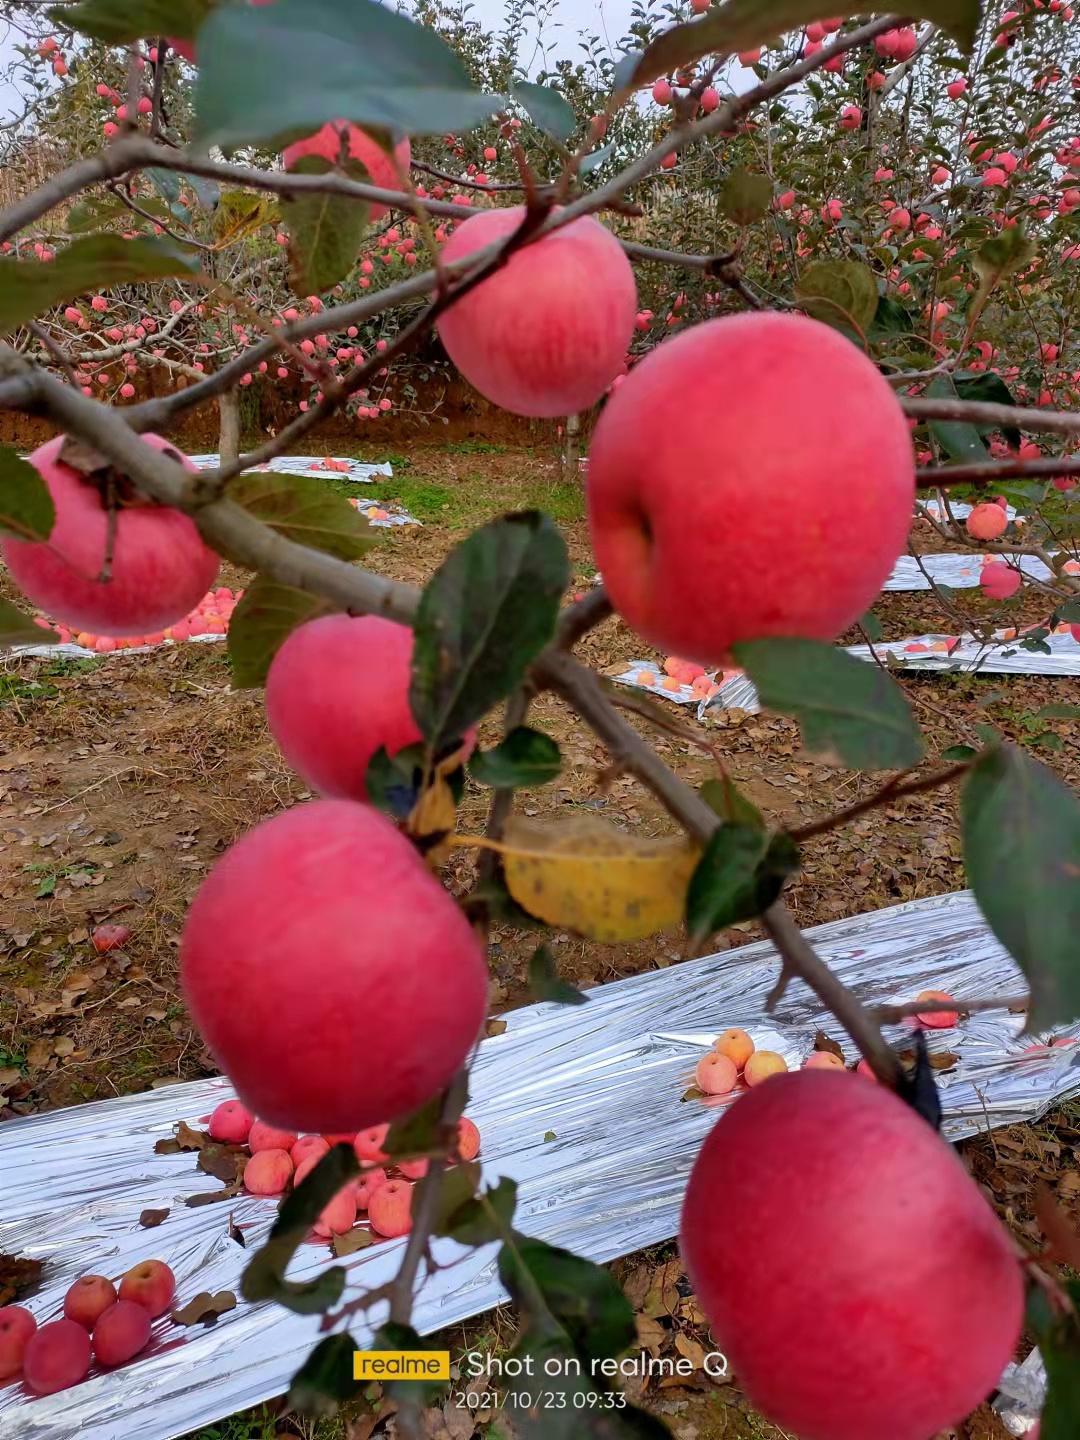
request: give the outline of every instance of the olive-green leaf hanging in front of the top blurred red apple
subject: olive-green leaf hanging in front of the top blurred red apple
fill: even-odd
[[[334,168],[323,156],[302,156],[294,174],[327,174]],[[344,166],[350,180],[370,180],[356,160]],[[333,289],[356,265],[370,204],[344,194],[298,194],[284,197],[281,217],[289,232],[289,285],[297,295],[321,295]]]

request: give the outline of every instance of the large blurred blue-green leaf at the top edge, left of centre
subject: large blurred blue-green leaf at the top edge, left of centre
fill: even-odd
[[[377,0],[223,4],[199,35],[199,132],[225,150],[276,145],[338,118],[406,135],[471,130],[503,105],[474,88],[431,26]]]

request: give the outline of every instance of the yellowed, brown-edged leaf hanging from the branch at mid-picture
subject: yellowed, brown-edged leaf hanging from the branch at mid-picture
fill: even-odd
[[[641,840],[593,815],[514,816],[503,841],[507,888],[523,909],[608,945],[678,924],[698,858],[685,840]]]

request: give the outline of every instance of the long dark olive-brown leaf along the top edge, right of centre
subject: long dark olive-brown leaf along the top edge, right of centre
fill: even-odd
[[[913,20],[932,20],[948,30],[965,53],[975,45],[979,12],[979,0],[914,0],[904,9]],[[749,50],[809,20],[851,14],[865,14],[865,7],[829,4],[828,0],[726,0],[713,6],[704,19],[677,24],[660,35],[642,55],[632,85],[648,85],[703,55]]]

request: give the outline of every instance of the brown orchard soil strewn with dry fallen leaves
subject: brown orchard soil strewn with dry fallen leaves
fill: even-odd
[[[369,557],[372,569],[423,583],[468,530],[507,510],[540,505],[564,530],[577,588],[589,586],[596,567],[583,482],[576,474],[560,478],[550,452],[472,441],[413,448],[408,456],[370,452],[360,458],[390,458],[393,481],[386,487],[327,484],[350,495],[370,488],[423,521],[423,528],[383,531]],[[942,549],[924,530],[916,528],[914,536],[923,552]],[[783,537],[776,543],[782,546]],[[223,583],[242,585],[243,576],[226,569]],[[6,586],[0,579],[0,593],[10,596]],[[991,613],[978,592],[959,593],[958,603],[968,616]],[[1024,606],[1009,609],[1009,624],[1038,618],[1038,596]],[[886,639],[958,628],[927,593],[883,596],[874,612]],[[609,674],[642,655],[642,642],[618,619],[590,632],[580,648],[590,665]],[[1080,681],[907,675],[901,684],[932,756],[950,744],[978,743],[975,726],[992,724],[1032,746],[1035,755],[1053,750],[1054,768],[1080,786],[1080,721],[1038,719],[1050,703],[1080,704]],[[805,756],[793,721],[732,716],[719,717],[719,729],[704,730],[693,710],[662,708],[719,742],[740,791],[788,825],[848,805],[876,785],[874,776],[829,769]],[[562,703],[544,696],[534,714],[559,740],[566,768],[553,785],[523,792],[527,815],[585,809],[638,835],[671,831],[667,814],[636,782],[605,773],[602,746]],[[644,721],[634,723],[644,727]],[[261,693],[229,688],[225,647],[213,644],[89,661],[7,660],[0,664],[0,985],[16,1001],[0,1025],[0,1094],[10,1104],[0,1113],[26,1115],[212,1073],[179,995],[176,955],[184,912],[207,867],[233,840],[255,819],[307,796],[269,737]],[[492,727],[481,739],[494,734]],[[711,773],[711,757],[703,750],[668,734],[651,737],[691,783]],[[487,792],[469,783],[462,831],[482,829],[485,804]],[[474,865],[474,854],[454,855],[455,893],[468,890]],[[949,792],[932,792],[815,840],[788,896],[799,923],[812,926],[962,886],[955,804]],[[89,932],[114,919],[131,927],[131,940],[98,955]],[[739,926],[723,932],[716,946],[742,945],[759,933],[753,923]],[[560,973],[579,986],[674,965],[684,953],[674,933],[615,948],[566,935],[554,935],[553,942]],[[534,946],[531,936],[492,930],[492,1014],[528,1002],[526,972]],[[723,1028],[726,1017],[717,1015],[716,1024]],[[1032,1220],[1040,1179],[1054,1185],[1080,1220],[1080,1106],[1057,1110],[1035,1126],[995,1132],[966,1146],[966,1155],[1001,1217],[1027,1238],[1040,1240]],[[1,1266],[0,1257],[0,1283]],[[696,1346],[710,1348],[674,1246],[619,1261],[615,1270],[638,1313],[645,1346],[657,1355],[691,1358]],[[454,1349],[468,1344],[492,1352],[513,1342],[510,1320],[501,1315],[481,1316],[446,1339]],[[703,1380],[703,1388],[657,1388],[654,1382],[642,1395],[635,1385],[639,1381],[631,1382],[632,1398],[665,1414],[681,1440],[780,1437],[749,1411],[733,1385]],[[269,1407],[202,1436],[367,1440],[379,1413],[376,1391],[361,1414],[347,1421],[302,1423]],[[444,1430],[452,1440],[468,1440],[464,1418],[449,1407]],[[487,1423],[478,1430],[485,1434]],[[981,1414],[956,1436],[1001,1440],[1005,1430]]]

